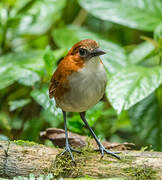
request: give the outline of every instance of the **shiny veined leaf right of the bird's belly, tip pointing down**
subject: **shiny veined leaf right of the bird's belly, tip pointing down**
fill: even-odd
[[[162,83],[162,67],[130,66],[112,75],[106,93],[120,113],[150,95]]]

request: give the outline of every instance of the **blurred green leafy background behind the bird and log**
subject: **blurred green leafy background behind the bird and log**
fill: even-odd
[[[40,131],[63,128],[49,81],[86,38],[107,52],[108,76],[107,99],[87,112],[89,124],[102,140],[161,151],[161,0],[1,0],[0,140],[40,142]],[[90,135],[77,113],[68,129]]]

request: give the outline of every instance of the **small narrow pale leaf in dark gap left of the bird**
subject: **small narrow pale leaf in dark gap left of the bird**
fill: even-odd
[[[14,111],[17,108],[23,107],[31,102],[30,99],[19,99],[15,101],[9,101],[10,111]]]

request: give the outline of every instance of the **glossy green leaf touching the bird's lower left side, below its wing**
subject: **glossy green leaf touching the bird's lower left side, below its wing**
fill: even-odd
[[[56,103],[54,98],[49,98],[48,87],[44,86],[41,89],[35,89],[32,91],[31,96],[33,99],[40,104],[45,110],[49,110],[51,114],[54,116],[59,116],[61,113],[61,109],[56,108]]]

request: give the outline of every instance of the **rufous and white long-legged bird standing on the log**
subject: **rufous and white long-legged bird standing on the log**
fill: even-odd
[[[106,52],[99,48],[92,39],[84,39],[74,44],[67,55],[60,61],[52,75],[49,85],[49,97],[54,98],[56,106],[62,110],[65,129],[65,150],[61,155],[72,152],[80,153],[71,147],[67,132],[67,112],[78,112],[82,121],[95,139],[101,157],[104,153],[117,159],[120,156],[106,149],[86,120],[86,111],[96,105],[104,96],[107,73],[100,59]]]

